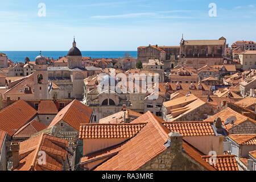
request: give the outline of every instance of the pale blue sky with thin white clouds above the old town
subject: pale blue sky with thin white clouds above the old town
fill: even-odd
[[[0,0],[0,50],[67,51],[73,36],[81,51],[178,46],[182,34],[256,41],[255,16],[255,0]]]

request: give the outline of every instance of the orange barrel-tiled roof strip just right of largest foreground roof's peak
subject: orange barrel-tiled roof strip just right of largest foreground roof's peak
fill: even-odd
[[[183,137],[215,136],[212,128],[213,122],[164,122],[163,124]]]

